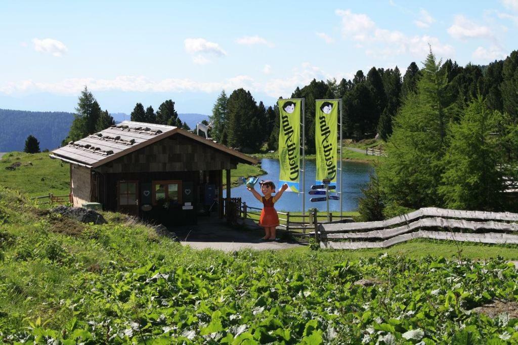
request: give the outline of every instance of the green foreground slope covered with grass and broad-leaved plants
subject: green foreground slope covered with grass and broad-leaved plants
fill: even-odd
[[[458,257],[458,252],[449,259],[415,251],[394,255],[405,246],[383,255],[307,248],[196,251],[124,215],[104,215],[108,224],[80,224],[34,208],[16,191],[0,189],[1,341],[518,340],[515,314],[503,322],[466,311],[496,299],[504,306],[515,304],[518,273],[501,257],[482,262]],[[406,246],[415,243],[420,244]],[[436,253],[440,246],[426,245]],[[477,249],[468,250],[477,258],[496,251],[516,258],[515,248],[460,248]],[[502,334],[507,340],[499,338]],[[461,342],[467,338],[474,342]]]

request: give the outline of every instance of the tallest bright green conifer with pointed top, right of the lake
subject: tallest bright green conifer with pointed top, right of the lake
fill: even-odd
[[[389,202],[420,208],[441,204],[437,187],[442,178],[442,157],[447,147],[450,114],[443,103],[448,85],[445,71],[430,51],[417,93],[409,93],[394,118],[387,158],[377,171]]]

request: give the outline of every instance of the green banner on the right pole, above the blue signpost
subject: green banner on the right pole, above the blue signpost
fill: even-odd
[[[322,99],[315,104],[316,184],[323,179],[336,182],[338,102]]]

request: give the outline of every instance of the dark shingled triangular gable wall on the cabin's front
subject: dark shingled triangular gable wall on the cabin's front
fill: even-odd
[[[96,168],[102,173],[235,169],[234,156],[182,135],[164,138]]]

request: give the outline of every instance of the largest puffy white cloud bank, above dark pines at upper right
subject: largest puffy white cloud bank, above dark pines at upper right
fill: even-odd
[[[380,28],[368,16],[352,13],[350,10],[336,10],[342,17],[342,36],[355,42],[356,48],[364,48],[365,53],[376,58],[388,55],[410,53],[422,58],[428,54],[431,45],[437,55],[454,54],[454,48],[440,42],[437,37],[428,35],[408,36],[400,31]]]

